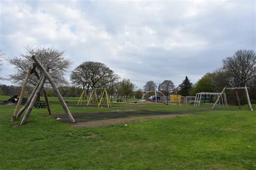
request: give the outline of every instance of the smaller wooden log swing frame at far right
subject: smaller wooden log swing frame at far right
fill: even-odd
[[[248,107],[251,111],[253,111],[252,109],[252,104],[251,104],[251,101],[250,101],[250,97],[249,97],[249,94],[248,94],[248,90],[247,90],[247,87],[224,87],[224,89],[221,91],[220,94],[225,94],[225,90],[234,90],[235,92],[235,96],[237,97],[237,102],[238,102],[238,105],[239,105],[239,109],[241,109],[241,104],[240,104],[240,100],[239,100],[239,96],[238,96],[238,90],[239,89],[244,89],[245,90],[245,95],[246,95],[246,100],[247,100],[247,103],[248,103]],[[217,98],[216,102],[214,103],[212,109],[214,109],[215,105],[218,103],[218,101],[220,100],[220,96]],[[226,95],[224,97],[224,101],[225,101],[225,107],[227,108],[227,98],[226,98]]]

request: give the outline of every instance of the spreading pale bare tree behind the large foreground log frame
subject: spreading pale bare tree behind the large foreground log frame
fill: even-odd
[[[26,47],[25,49],[26,53],[21,54],[21,57],[7,59],[11,65],[15,66],[15,74],[10,75],[10,80],[13,83],[21,84],[23,82],[26,71],[33,63],[33,60],[31,59],[32,55],[35,55],[45,68],[49,68],[49,74],[57,86],[67,83],[64,75],[67,69],[70,68],[72,62],[69,59],[64,58],[64,51],[58,51],[53,47]],[[40,70],[37,71],[40,75],[43,74]],[[28,83],[36,86],[37,81],[37,77],[33,74],[30,76]]]

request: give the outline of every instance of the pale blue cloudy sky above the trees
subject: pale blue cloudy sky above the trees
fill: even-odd
[[[255,51],[255,9],[255,1],[0,0],[0,47],[6,58],[54,47],[73,61],[69,70],[97,61],[138,88],[150,80],[178,86],[239,49]],[[2,77],[14,74],[2,63]]]

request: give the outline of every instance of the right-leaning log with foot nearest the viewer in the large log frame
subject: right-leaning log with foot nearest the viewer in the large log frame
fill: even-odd
[[[34,104],[35,104],[35,102],[36,102],[36,100],[37,100],[37,97],[38,97],[38,95],[40,95],[40,91],[42,90],[42,88],[43,88],[43,86],[44,86],[44,83],[45,83],[45,75],[43,75],[42,77],[43,77],[43,78],[42,78],[42,81],[39,83],[39,86],[38,86],[38,88],[37,88],[37,90],[36,90],[36,93],[35,93],[35,95],[33,96],[32,100],[31,100],[31,102],[30,102],[30,104],[29,104],[28,110],[26,110],[26,113],[25,113],[25,115],[24,115],[24,117],[23,117],[23,119],[22,119],[21,125],[26,124],[26,120],[28,120],[28,117],[29,117],[29,115],[30,115],[31,110],[32,110],[33,107],[34,107]]]

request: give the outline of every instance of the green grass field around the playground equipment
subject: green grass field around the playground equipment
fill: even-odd
[[[117,110],[190,114],[76,128],[56,121],[64,111],[55,99],[50,101],[53,116],[33,109],[24,126],[16,126],[21,119],[10,122],[14,105],[0,105],[0,169],[256,169],[256,111],[246,105],[242,110],[132,102],[70,107],[77,115]]]

